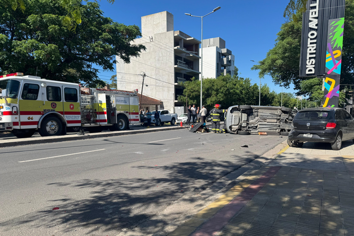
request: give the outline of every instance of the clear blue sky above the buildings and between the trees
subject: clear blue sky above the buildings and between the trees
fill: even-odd
[[[220,37],[226,41],[226,47],[235,55],[235,65],[239,75],[249,77],[259,84],[258,71],[252,71],[255,63],[265,58],[269,49],[274,47],[276,33],[285,23],[284,9],[289,1],[284,0],[225,0],[225,1],[119,1],[109,4],[107,0],[99,3],[104,16],[126,25],[141,27],[141,17],[156,12],[168,11],[173,14],[174,30],[201,39],[200,18],[190,17],[184,13],[201,16],[214,8],[221,9],[203,18],[203,39]],[[108,79],[112,72],[101,74]],[[100,76],[100,77],[101,77]],[[274,85],[270,76],[262,79],[271,90],[281,92],[281,87]],[[296,92],[293,86],[283,92]]]

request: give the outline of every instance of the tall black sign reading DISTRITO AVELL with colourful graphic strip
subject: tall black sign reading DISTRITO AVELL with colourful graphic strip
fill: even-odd
[[[344,8],[345,0],[308,0],[302,16],[299,76],[325,78],[324,107],[338,107]]]

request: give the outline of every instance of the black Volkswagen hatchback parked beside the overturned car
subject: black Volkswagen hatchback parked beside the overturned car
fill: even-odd
[[[353,117],[342,108],[303,109],[296,114],[292,125],[287,139],[289,146],[318,142],[330,143],[333,150],[339,150],[342,141],[354,139]]]

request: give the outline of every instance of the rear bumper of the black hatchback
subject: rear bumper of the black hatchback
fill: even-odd
[[[288,135],[288,139],[297,142],[333,143],[336,140],[338,131],[338,129],[325,129],[321,131],[292,129]],[[312,137],[304,137],[304,134],[312,134]]]

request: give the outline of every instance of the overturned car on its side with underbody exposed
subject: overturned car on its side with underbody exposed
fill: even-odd
[[[286,107],[236,105],[229,107],[225,125],[230,133],[287,135],[297,111]]]

